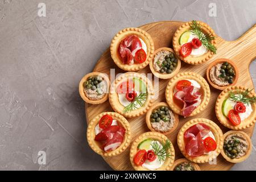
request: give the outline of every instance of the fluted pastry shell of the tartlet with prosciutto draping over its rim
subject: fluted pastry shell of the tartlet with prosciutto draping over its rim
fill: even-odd
[[[180,106],[174,102],[174,90],[177,82],[184,79],[197,81],[200,84],[201,90],[203,92],[203,96],[201,97],[201,104],[197,106],[196,109],[193,110],[193,112],[189,115],[189,117],[191,117],[193,115],[199,114],[205,109],[205,107],[207,107],[210,101],[210,88],[207,81],[197,73],[183,72],[171,78],[166,87],[166,101],[167,104],[171,107],[172,111],[174,111],[176,114],[183,115]]]

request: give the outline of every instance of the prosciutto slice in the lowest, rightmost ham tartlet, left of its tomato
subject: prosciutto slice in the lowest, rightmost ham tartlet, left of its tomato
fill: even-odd
[[[203,138],[209,132],[209,127],[204,123],[198,123],[185,131],[185,150],[189,156],[201,156],[207,151],[203,144]]]

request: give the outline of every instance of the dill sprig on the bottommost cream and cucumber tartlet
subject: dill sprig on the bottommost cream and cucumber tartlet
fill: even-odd
[[[166,143],[163,144],[163,147],[158,144],[158,142],[151,143],[153,151],[156,156],[158,156],[159,162],[166,160],[166,158],[170,158],[168,149],[171,148],[170,140],[166,140]]]

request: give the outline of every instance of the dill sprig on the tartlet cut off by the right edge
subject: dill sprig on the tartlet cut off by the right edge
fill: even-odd
[[[256,97],[249,96],[249,93],[251,92],[251,90],[246,89],[243,92],[240,90],[236,90],[236,93],[231,91],[229,92],[230,100],[235,102],[242,102],[243,104],[247,104],[248,106],[250,102],[251,103],[256,102]]]

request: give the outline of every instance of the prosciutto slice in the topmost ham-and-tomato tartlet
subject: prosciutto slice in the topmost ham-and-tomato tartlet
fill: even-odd
[[[136,35],[129,35],[123,39],[119,46],[119,55],[123,64],[133,64],[135,53],[142,48],[141,40]]]

